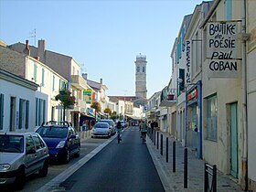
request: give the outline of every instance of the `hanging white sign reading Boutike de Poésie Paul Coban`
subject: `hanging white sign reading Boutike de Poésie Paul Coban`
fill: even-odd
[[[208,23],[208,78],[238,78],[237,22]]]

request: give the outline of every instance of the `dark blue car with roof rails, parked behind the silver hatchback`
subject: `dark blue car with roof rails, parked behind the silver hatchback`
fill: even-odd
[[[48,145],[50,160],[69,163],[70,157],[80,156],[80,135],[68,122],[42,123],[36,131]]]

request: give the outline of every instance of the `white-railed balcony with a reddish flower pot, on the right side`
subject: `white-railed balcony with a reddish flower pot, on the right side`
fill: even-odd
[[[160,106],[172,107],[176,105],[176,89],[165,88],[161,92]]]

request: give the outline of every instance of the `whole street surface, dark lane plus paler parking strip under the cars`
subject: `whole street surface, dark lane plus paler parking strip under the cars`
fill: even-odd
[[[28,176],[22,191],[165,191],[138,127],[125,129],[122,139],[82,141],[79,158],[50,164],[46,177]],[[0,189],[14,191],[11,185]]]

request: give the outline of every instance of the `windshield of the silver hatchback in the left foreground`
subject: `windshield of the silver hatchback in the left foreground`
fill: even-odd
[[[0,135],[0,152],[23,153],[23,138],[22,135]]]

